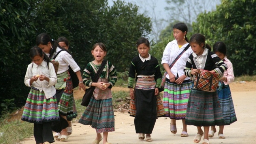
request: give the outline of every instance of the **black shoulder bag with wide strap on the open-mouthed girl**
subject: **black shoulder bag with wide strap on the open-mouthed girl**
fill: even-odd
[[[92,80],[94,83],[98,82],[98,80],[100,78],[100,74],[103,71],[105,65],[106,65],[106,60],[103,60],[101,65],[100,65],[99,70],[97,71],[97,73],[94,76],[94,79]],[[95,89],[94,86],[92,86],[90,88],[86,88],[81,105],[88,106],[88,104],[90,102],[90,99],[93,96],[94,89]]]

